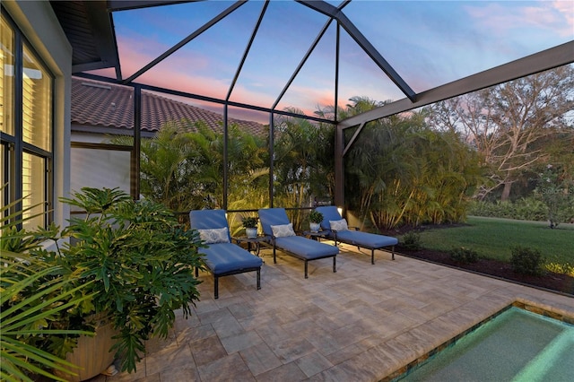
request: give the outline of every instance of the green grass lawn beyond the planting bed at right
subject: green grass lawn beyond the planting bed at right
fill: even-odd
[[[561,224],[551,230],[541,221],[468,217],[464,227],[424,230],[422,247],[449,250],[468,247],[479,256],[510,260],[514,246],[537,248],[547,262],[574,264],[574,224]]]

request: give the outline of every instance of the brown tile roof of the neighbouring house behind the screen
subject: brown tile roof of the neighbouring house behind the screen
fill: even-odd
[[[133,88],[79,77],[72,78],[72,124],[82,126],[134,128]],[[142,91],[142,131],[156,132],[168,121],[204,121],[213,131],[222,133],[223,116],[185,102]],[[265,126],[253,121],[229,118],[243,131],[264,135]],[[186,124],[187,127],[190,127]],[[191,126],[190,130],[194,130]]]

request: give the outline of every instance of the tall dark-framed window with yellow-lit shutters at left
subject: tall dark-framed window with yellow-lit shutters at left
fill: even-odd
[[[0,57],[0,175],[2,203],[18,206],[23,228],[50,221],[54,79],[30,44],[2,14]]]

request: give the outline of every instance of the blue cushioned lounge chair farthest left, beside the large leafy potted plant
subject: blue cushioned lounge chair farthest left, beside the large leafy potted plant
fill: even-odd
[[[205,256],[205,265],[214,278],[214,297],[219,298],[219,278],[244,272],[257,272],[257,289],[261,289],[260,257],[235,244],[231,244],[230,230],[225,211],[223,210],[196,210],[189,212],[189,222],[192,229],[199,230],[204,243],[209,247],[200,248],[199,252]],[[196,269],[196,276],[198,270]]]

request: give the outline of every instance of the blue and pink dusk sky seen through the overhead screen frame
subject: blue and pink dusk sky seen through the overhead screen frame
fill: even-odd
[[[123,77],[231,4],[204,1],[113,13]],[[135,82],[225,99],[263,4],[240,6]],[[573,0],[353,0],[344,13],[416,92],[574,39]],[[272,0],[230,100],[271,107],[326,21],[302,4]],[[277,109],[312,114],[317,106],[334,104],[335,25]],[[353,96],[404,98],[344,30],[340,55],[339,105]]]

